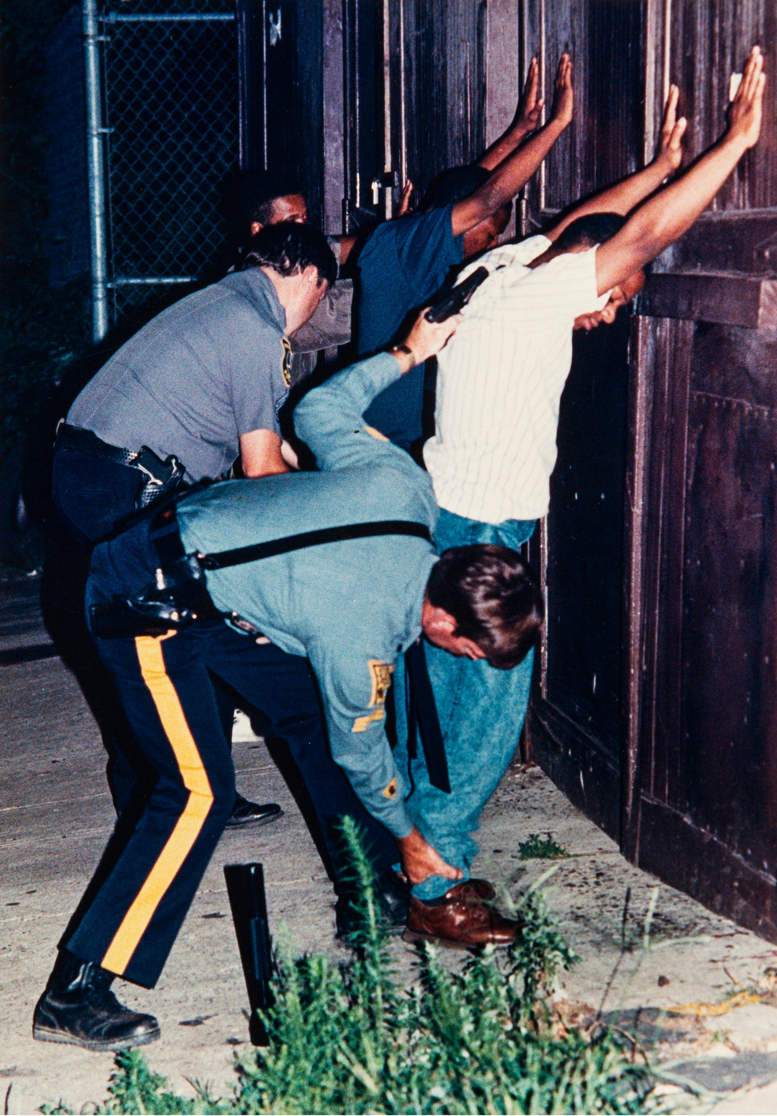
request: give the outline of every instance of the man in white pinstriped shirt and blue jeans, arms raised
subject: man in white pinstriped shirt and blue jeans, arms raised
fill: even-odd
[[[645,170],[575,206],[544,235],[495,249],[472,264],[486,266],[490,275],[440,354],[435,436],[424,446],[441,507],[440,551],[474,542],[517,549],[547,512],[573,329],[614,320],[642,288],[644,266],[691,227],[756,143],[761,67],[755,47],[722,137],[660,193],[649,196],[682,158],[685,121],[675,121],[675,87],[656,156]],[[467,878],[478,848],[471,833],[518,743],[533,656],[499,671],[485,656],[479,662],[447,656],[445,663],[434,647],[425,651],[451,793],[431,786],[421,757],[407,757],[400,693],[395,758],[397,767],[407,764],[411,816]],[[414,887],[411,918],[433,910],[429,904],[449,886],[430,877]]]

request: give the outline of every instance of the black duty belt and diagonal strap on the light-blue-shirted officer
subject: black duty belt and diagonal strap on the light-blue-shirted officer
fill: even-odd
[[[345,542],[385,535],[410,535],[431,543],[429,528],[411,520],[377,520],[372,523],[347,523],[303,531],[280,539],[255,542],[215,554],[185,554],[175,514],[176,499],[156,511],[151,520],[148,538],[156,551],[159,567],[155,580],[133,597],[89,606],[92,631],[99,638],[136,635],[161,635],[171,629],[189,627],[196,620],[217,619],[219,613],[210,598],[205,570],[224,569],[244,562],[272,558],[307,547],[328,542]],[[115,545],[115,542],[114,542]],[[230,614],[227,614],[228,616]],[[232,616],[232,619],[236,617]]]

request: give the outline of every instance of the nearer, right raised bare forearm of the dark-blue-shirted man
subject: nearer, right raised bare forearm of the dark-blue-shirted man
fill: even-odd
[[[457,202],[452,214],[454,237],[473,229],[476,224],[480,224],[502,205],[512,201],[539,167],[564,128],[572,122],[573,104],[572,61],[568,55],[562,55],[550,119],[500,163],[488,182],[469,198]]]

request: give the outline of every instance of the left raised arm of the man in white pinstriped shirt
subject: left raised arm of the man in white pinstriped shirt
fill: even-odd
[[[677,85],[671,86],[653,161],[643,171],[630,174],[627,179],[575,205],[560,221],[544,230],[548,240],[556,240],[568,224],[587,213],[622,213],[625,217],[678,170],[682,162],[682,137],[688,123],[684,116],[677,119],[678,94]]]

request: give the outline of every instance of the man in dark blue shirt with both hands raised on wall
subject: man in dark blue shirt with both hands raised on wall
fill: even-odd
[[[432,182],[422,212],[386,221],[371,233],[358,257],[358,353],[387,345],[407,315],[443,286],[452,268],[493,248],[510,220],[512,199],[528,182],[572,121],[572,62],[563,55],[550,119],[530,138],[537,102],[533,59],[516,118],[472,166],[459,166]],[[524,142],[525,141],[525,142]],[[421,437],[424,369],[416,368],[373,402],[367,422],[409,450]]]

